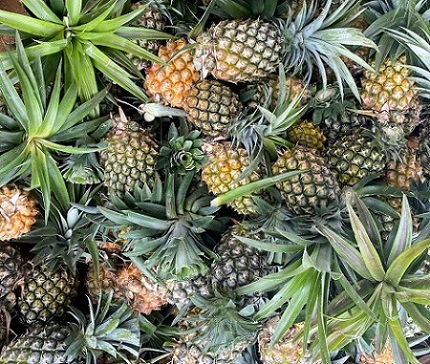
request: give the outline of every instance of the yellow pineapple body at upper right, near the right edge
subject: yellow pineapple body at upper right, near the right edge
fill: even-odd
[[[405,64],[406,56],[396,61],[388,58],[378,72],[366,70],[361,79],[361,99],[363,109],[372,111],[383,123],[402,127],[409,135],[422,122],[422,107],[412,71]]]

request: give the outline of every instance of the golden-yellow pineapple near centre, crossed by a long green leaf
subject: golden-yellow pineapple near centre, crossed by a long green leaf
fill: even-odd
[[[214,195],[219,195],[259,180],[256,171],[238,179],[249,166],[249,156],[245,149],[233,149],[230,142],[215,143],[208,149],[208,161],[202,166],[201,178]],[[250,195],[235,199],[229,204],[240,214],[255,213],[255,205]]]

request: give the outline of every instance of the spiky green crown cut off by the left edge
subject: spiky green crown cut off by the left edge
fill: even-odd
[[[1,12],[1,11],[0,11]],[[5,63],[0,63],[0,91],[9,115],[0,120],[2,140],[0,148],[0,185],[15,178],[30,178],[30,188],[40,189],[45,208],[45,219],[51,207],[51,197],[67,203],[68,189],[59,168],[57,155],[86,154],[102,147],[73,145],[86,138],[105,121],[104,118],[87,121],[85,118],[106,96],[106,90],[97,93],[76,107],[77,88],[72,84],[63,88],[58,65],[55,82],[48,86],[42,72],[40,58],[30,62],[19,35],[16,35],[16,54],[8,53],[17,74],[21,92],[14,86]]]

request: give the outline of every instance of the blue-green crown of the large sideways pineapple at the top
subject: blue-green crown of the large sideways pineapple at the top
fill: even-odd
[[[332,0],[328,0],[319,14],[316,14],[317,2],[309,7],[303,2],[297,15],[291,12],[287,19],[276,19],[276,25],[284,37],[283,61],[287,71],[293,73],[306,69],[305,76],[310,79],[314,67],[327,86],[327,65],[334,73],[343,97],[344,84],[360,100],[359,90],[348,67],[342,58],[349,58],[365,69],[372,68],[348,46],[376,49],[376,44],[366,37],[360,29],[350,26],[363,9],[360,1],[347,0],[332,9]],[[333,11],[331,11],[333,10]]]

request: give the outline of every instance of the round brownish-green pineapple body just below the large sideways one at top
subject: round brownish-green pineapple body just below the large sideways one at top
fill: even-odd
[[[224,136],[241,110],[239,97],[216,80],[196,82],[184,104],[188,121],[210,137]]]

